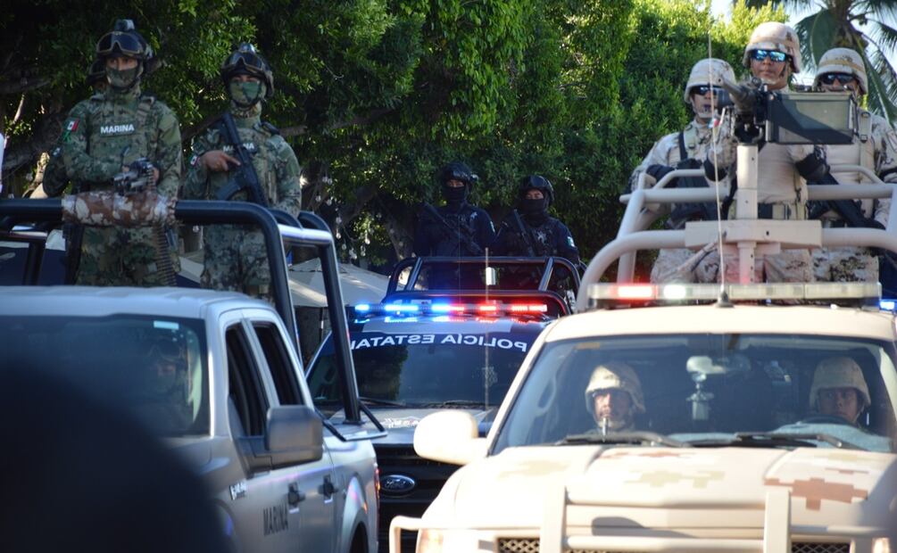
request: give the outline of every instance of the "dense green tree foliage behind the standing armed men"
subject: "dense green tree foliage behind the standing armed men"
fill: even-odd
[[[116,18],[135,19],[166,61],[147,88],[185,142],[225,108],[218,66],[249,40],[274,67],[265,117],[300,157],[305,204],[349,257],[381,262],[410,252],[417,205],[439,200],[449,160],[475,168],[475,202],[496,223],[521,177],[548,177],[555,214],[594,254],[631,169],[691,117],[682,87],[708,35],[739,66],[753,27],[784,18],[736,6],[713,21],[692,0],[40,0],[37,18],[32,6],[13,0],[0,20],[5,177],[29,170],[88,94],[93,45]]]

